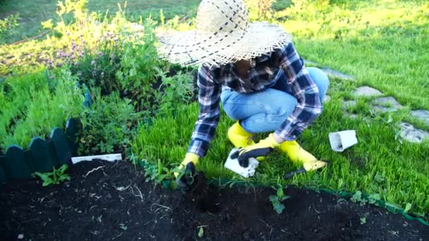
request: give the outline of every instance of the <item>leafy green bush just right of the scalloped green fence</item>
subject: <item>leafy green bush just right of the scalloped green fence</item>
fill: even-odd
[[[81,114],[83,136],[79,142],[80,154],[101,154],[123,151],[131,143],[133,127],[141,114],[135,113],[130,99],[121,99],[117,92],[102,96],[99,89],[90,109]]]

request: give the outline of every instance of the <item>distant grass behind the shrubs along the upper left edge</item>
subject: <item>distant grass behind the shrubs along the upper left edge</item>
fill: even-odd
[[[128,0],[126,4],[126,16],[129,20],[138,21],[140,16],[146,18],[152,16],[159,18],[159,10],[163,9],[164,16],[172,18],[175,15],[194,16],[200,0]],[[114,14],[119,8],[123,8],[125,1],[116,0],[89,0],[87,8],[89,11]],[[11,14],[19,14],[19,26],[13,28],[6,43],[27,39],[43,32],[41,22],[52,18],[53,23],[59,20],[56,16],[56,1],[33,0],[13,1],[4,0],[0,2],[0,18],[6,18]]]

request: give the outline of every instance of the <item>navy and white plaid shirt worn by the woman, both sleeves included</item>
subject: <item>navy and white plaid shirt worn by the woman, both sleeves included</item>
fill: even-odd
[[[220,68],[200,66],[198,70],[198,101],[200,114],[195,123],[188,152],[205,156],[210,141],[219,123],[219,100],[223,88],[248,94],[274,85],[279,76],[286,75],[287,83],[298,104],[291,114],[275,131],[284,140],[295,140],[298,135],[322,112],[318,87],[310,78],[303,59],[296,53],[294,44],[284,45],[270,54],[251,61],[248,78],[243,80],[236,74],[233,63]]]

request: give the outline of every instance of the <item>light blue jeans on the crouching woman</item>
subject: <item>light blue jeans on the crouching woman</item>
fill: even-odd
[[[323,101],[330,80],[318,68],[308,67],[307,70],[318,86],[320,101]],[[277,130],[298,104],[285,76],[279,78],[272,87],[252,94],[224,89],[221,101],[226,115],[234,121],[240,121],[241,126],[249,133]]]

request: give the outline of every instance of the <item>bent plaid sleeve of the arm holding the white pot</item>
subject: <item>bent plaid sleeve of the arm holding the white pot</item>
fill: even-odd
[[[294,44],[286,44],[280,51],[279,66],[286,74],[287,84],[298,104],[294,112],[275,133],[284,140],[296,140],[304,129],[322,113],[319,89],[298,56]]]

